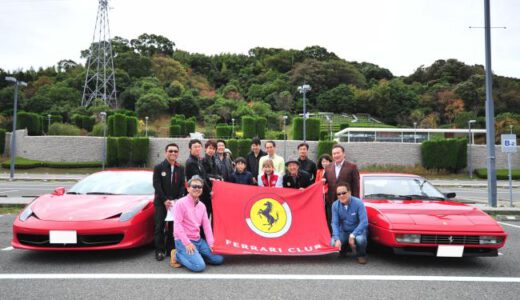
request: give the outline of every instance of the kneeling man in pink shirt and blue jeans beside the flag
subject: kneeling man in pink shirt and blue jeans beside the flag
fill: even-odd
[[[224,257],[213,254],[213,232],[206,212],[200,202],[204,180],[195,175],[188,181],[188,195],[177,200],[173,212],[173,236],[175,248],[171,253],[172,267],[185,266],[193,272],[202,272],[206,263],[220,265]],[[204,229],[207,242],[200,237],[200,227]]]

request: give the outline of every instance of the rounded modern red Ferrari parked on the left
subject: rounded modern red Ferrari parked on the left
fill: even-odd
[[[14,221],[11,244],[29,250],[145,245],[153,241],[153,198],[150,171],[98,172],[27,205]]]

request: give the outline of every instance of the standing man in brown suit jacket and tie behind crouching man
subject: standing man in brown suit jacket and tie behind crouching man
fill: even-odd
[[[359,198],[359,171],[354,163],[345,160],[345,148],[340,144],[334,145],[332,147],[332,159],[334,162],[327,166],[324,175],[325,182],[329,185],[325,199],[325,212],[329,230],[331,229],[332,203],[337,199],[336,185],[340,182],[347,182],[351,187],[352,196]]]

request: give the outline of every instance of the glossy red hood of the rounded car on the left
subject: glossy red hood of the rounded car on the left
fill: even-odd
[[[118,217],[140,203],[153,201],[150,195],[43,195],[31,206],[45,221],[98,221]]]

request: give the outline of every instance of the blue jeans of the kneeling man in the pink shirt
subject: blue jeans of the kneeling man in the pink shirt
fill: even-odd
[[[221,265],[224,262],[224,257],[211,252],[205,240],[200,239],[198,241],[191,241],[191,243],[195,246],[195,251],[192,254],[188,254],[182,241],[175,240],[175,248],[177,249],[175,257],[177,262],[190,271],[204,271],[206,268],[205,261],[210,265]]]

